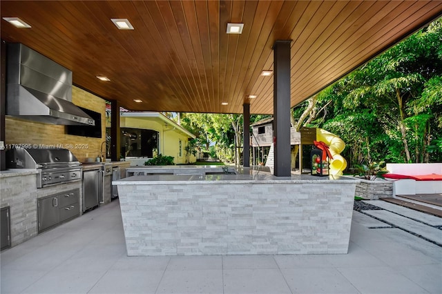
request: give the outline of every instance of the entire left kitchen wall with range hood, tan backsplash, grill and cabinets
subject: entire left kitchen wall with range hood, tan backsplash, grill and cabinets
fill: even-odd
[[[106,159],[104,99],[73,86],[70,70],[38,52],[6,48],[2,250],[111,203],[112,180],[129,166]]]

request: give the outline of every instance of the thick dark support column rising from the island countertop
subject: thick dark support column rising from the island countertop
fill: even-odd
[[[290,177],[290,40],[273,46],[274,175]]]

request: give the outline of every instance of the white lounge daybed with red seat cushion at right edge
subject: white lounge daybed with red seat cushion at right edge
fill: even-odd
[[[394,181],[393,196],[442,193],[442,163],[387,164],[385,179]]]

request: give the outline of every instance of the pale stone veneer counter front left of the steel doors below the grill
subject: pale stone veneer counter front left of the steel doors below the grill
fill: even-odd
[[[37,175],[1,175],[0,206],[10,206],[11,246],[37,235]]]

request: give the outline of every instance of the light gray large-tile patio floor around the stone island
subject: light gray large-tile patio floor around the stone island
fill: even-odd
[[[2,294],[442,293],[442,247],[356,211],[347,255],[127,257],[116,201],[0,258]]]

